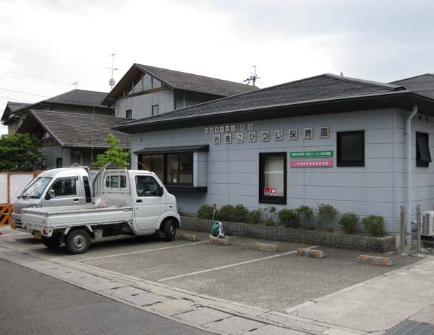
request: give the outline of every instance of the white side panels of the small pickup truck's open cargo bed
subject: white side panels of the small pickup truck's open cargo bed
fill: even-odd
[[[133,220],[133,207],[95,205],[29,208],[23,210],[21,220],[29,229],[41,227],[74,227],[79,225],[102,225]]]

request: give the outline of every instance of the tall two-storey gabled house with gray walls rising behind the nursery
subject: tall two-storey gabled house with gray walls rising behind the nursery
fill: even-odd
[[[102,103],[115,105],[117,118],[138,119],[256,90],[243,83],[135,63]]]

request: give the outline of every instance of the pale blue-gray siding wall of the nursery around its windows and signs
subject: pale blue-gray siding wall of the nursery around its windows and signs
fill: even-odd
[[[236,123],[237,130],[231,132],[231,144],[224,144],[223,136],[220,145],[213,144],[213,134],[204,133],[205,126],[139,133],[132,137],[132,151],[146,146],[210,145],[208,192],[176,194],[184,213],[194,213],[200,205],[213,203],[218,206],[243,204],[250,209],[266,207],[268,204],[258,202],[259,153],[285,151],[288,153],[288,202],[287,205],[275,205],[278,209],[300,205],[316,207],[323,202],[333,205],[340,213],[355,212],[362,217],[382,215],[386,220],[386,230],[398,232],[399,206],[405,202],[405,115],[403,110],[387,109],[260,120],[253,122],[258,137],[256,143],[247,140],[247,125],[251,122],[244,123],[244,143],[235,143],[240,123]],[[303,139],[303,128],[308,127],[313,127],[313,140]],[[330,138],[319,138],[320,127],[330,128]],[[415,128],[419,127],[430,128],[430,133],[433,133],[430,123],[418,124],[415,121]],[[298,140],[288,140],[289,128],[298,129]],[[280,129],[284,140],[277,142],[273,133]],[[270,131],[269,142],[261,142],[261,130]],[[365,130],[364,167],[336,167],[336,133],[348,130]],[[430,136],[431,145],[433,140]],[[289,168],[291,151],[310,150],[333,150],[333,168]],[[433,184],[432,169],[415,168],[418,173],[414,175],[413,192],[417,199],[415,202],[420,202],[423,208],[432,206],[431,199],[434,198],[433,187],[425,187]]]

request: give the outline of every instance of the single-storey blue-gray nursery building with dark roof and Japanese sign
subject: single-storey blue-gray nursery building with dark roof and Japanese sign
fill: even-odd
[[[156,172],[183,213],[214,203],[250,210],[324,203],[381,215],[396,233],[400,205],[413,219],[416,205],[434,205],[434,89],[420,90],[418,78],[324,74],[114,129],[131,134],[132,168]]]

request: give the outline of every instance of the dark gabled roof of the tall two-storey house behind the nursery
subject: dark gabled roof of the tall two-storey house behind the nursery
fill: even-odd
[[[173,71],[167,68],[157,68],[134,63],[133,66],[122,77],[121,81],[113,88],[103,103],[110,105],[116,98],[123,94],[126,85],[131,87],[133,81],[139,73],[148,73],[165,84],[165,86],[183,91],[193,91],[198,93],[207,93],[214,96],[224,97],[233,96],[234,94],[256,91],[259,88],[243,83],[225,81],[223,79],[199,76],[193,73]]]

